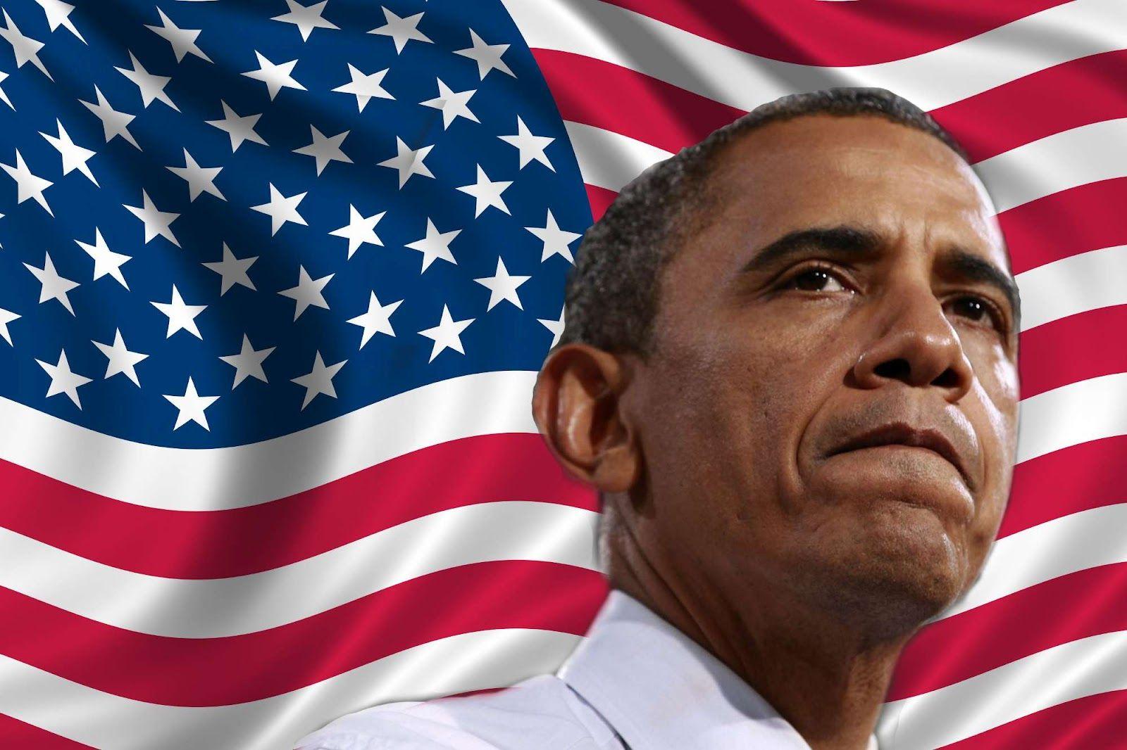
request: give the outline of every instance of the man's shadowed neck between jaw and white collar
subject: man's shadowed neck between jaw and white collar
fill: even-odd
[[[737,597],[701,581],[678,584],[635,545],[609,552],[613,588],[717,657],[814,750],[868,747],[911,632],[877,640],[769,582],[749,580]]]

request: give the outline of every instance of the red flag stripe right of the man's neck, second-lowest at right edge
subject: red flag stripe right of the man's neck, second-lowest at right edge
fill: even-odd
[[[1031,586],[922,628],[886,700],[955,685],[1062,643],[1127,630],[1127,563]]]

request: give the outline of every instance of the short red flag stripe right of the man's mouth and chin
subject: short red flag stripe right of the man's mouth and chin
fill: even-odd
[[[1013,468],[999,538],[1081,510],[1127,501],[1127,436],[1054,450]]]

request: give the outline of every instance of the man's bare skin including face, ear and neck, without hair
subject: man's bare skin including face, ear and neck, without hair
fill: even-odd
[[[861,750],[905,643],[976,580],[1005,509],[1005,244],[966,162],[876,116],[772,123],[715,163],[651,354],[560,347],[533,413],[604,494],[611,586],[816,750]]]

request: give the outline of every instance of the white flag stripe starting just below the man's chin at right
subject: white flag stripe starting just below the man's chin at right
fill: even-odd
[[[1068,573],[1127,562],[1124,529],[1127,503],[1054,518],[999,539],[974,586],[934,619],[952,617]]]

